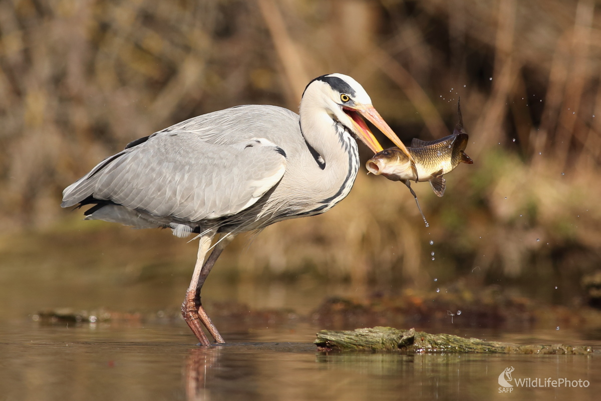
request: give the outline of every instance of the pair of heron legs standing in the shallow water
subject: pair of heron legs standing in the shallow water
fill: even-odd
[[[192,276],[192,281],[188,287],[188,292],[186,292],[186,300],[182,304],[182,314],[184,319],[186,320],[186,323],[188,323],[188,326],[190,326],[192,329],[192,332],[194,332],[198,338],[198,341],[200,341],[201,345],[209,345],[209,340],[207,339],[206,334],[204,334],[200,323],[203,323],[203,325],[215,339],[216,343],[225,343],[223,337],[221,337],[221,334],[219,334],[219,331],[217,331],[217,328],[203,308],[200,292],[203,288],[204,281],[213,268],[213,265],[215,265],[215,262],[221,255],[225,246],[227,246],[227,244],[230,243],[234,238],[234,235],[229,234],[221,237],[213,246],[213,252],[209,255],[206,262],[203,263],[204,256],[210,249],[209,245],[212,237],[212,235],[207,235],[201,237],[200,239],[200,244],[198,246],[198,260],[194,268],[194,275]]]

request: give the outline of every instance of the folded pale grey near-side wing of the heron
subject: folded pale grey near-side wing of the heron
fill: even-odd
[[[285,153],[266,139],[217,145],[191,132],[159,132],[67,187],[61,206],[93,197],[155,218],[215,219],[254,204],[285,165]]]

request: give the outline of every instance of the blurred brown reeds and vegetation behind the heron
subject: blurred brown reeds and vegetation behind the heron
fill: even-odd
[[[339,72],[407,144],[449,135],[460,97],[474,164],[446,177],[443,198],[413,184],[430,227],[404,185],[362,169],[330,212],[240,236],[212,275],[593,302],[600,67],[593,0],[2,1],[0,281],[64,294],[68,278],[151,283],[183,298],[195,244],[82,222],[59,207],[63,189],[186,118],[246,103],[297,111],[312,78]]]

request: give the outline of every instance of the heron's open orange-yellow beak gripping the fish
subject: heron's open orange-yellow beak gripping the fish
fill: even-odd
[[[359,116],[361,114],[363,117],[367,118],[374,126],[377,127],[382,133],[395,144],[397,147],[403,152],[410,161],[413,162],[413,157],[409,154],[409,151],[398,139],[398,136],[394,133],[391,127],[386,124],[386,121],[380,116],[380,113],[374,109],[372,105],[356,105],[354,108],[343,108],[344,112],[352,118],[353,123],[355,124],[355,129],[360,134],[360,138],[365,144],[371,149],[372,152],[378,153],[383,150],[382,145],[377,141],[373,133],[371,133],[370,129],[365,124],[365,121]]]

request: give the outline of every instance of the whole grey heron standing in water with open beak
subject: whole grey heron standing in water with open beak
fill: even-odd
[[[236,106],[136,139],[68,186],[61,206],[93,205],[85,219],[197,234],[182,314],[202,345],[210,344],[202,325],[224,343],[200,299],[215,261],[236,234],[318,215],[343,200],[359,170],[353,136],[382,150],[361,116],[412,159],[364,88],[330,74],[305,87],[299,114]]]

